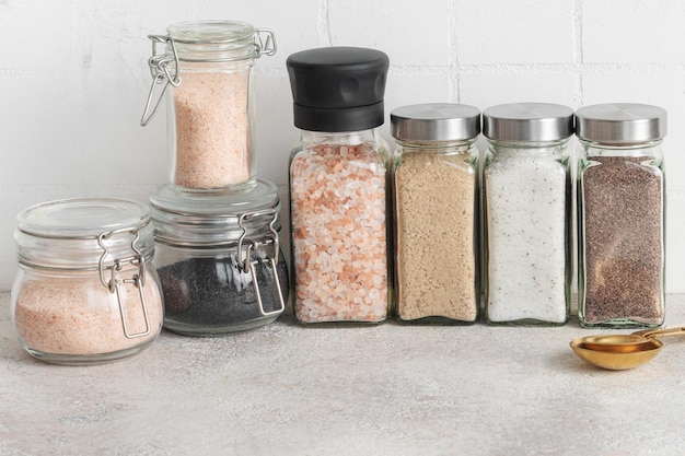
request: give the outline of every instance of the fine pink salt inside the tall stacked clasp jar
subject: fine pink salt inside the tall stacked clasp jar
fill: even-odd
[[[249,69],[181,74],[174,89],[174,184],[219,188],[252,177],[248,74]]]

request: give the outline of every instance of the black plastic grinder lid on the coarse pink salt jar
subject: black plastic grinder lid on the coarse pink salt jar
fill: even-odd
[[[383,125],[390,59],[374,49],[324,47],[286,62],[294,125],[309,131],[359,131]]]

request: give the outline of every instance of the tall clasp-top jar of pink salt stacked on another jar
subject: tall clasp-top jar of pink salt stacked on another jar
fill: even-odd
[[[254,186],[252,67],[276,52],[274,33],[231,21],[182,22],[166,31],[150,35],[153,82],[141,125],[166,93],[170,182],[195,190]]]

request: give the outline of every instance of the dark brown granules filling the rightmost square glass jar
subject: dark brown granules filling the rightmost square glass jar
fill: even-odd
[[[650,156],[593,156],[582,177],[581,323],[659,325],[663,303],[663,175]],[[581,246],[582,247],[582,246]]]

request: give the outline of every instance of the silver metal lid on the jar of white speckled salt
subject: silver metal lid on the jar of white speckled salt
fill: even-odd
[[[483,112],[483,135],[495,141],[558,141],[573,135],[573,110],[552,103],[510,103]]]

